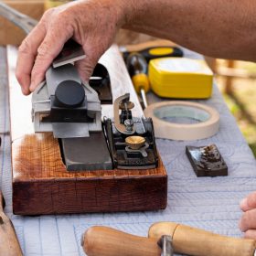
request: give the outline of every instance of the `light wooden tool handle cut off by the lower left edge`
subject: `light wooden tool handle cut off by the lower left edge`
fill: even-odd
[[[0,192],[0,255],[21,256],[16,231],[13,223],[3,211],[3,196]]]

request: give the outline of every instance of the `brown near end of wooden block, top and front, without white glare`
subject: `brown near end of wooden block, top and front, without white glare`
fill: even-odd
[[[15,214],[60,214],[165,208],[167,179],[157,169],[69,172],[58,140],[28,134],[13,144]]]

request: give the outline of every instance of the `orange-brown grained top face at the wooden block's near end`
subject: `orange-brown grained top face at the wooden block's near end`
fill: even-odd
[[[130,176],[165,176],[162,161],[158,168],[146,170],[93,170],[69,172],[63,164],[59,143],[52,133],[27,134],[13,143],[13,168],[15,181],[47,178],[123,178]],[[27,171],[29,170],[29,171]]]

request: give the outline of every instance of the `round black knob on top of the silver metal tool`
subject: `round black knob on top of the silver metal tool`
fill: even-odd
[[[55,103],[62,108],[77,108],[84,98],[85,92],[82,85],[74,80],[60,82],[55,91]]]

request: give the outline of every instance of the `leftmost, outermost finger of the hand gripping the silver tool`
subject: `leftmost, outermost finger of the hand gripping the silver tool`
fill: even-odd
[[[37,48],[46,35],[46,27],[39,23],[25,38],[18,49],[16,61],[16,79],[18,80],[23,94],[30,93],[30,75],[37,56]]]

